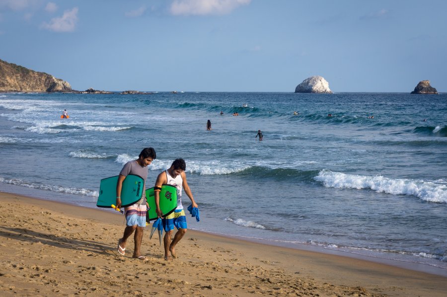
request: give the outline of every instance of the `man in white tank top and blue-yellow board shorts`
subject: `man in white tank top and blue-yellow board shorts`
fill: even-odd
[[[185,190],[186,195],[188,195],[189,199],[191,200],[192,207],[198,207],[196,202],[194,201],[191,189],[189,188],[186,181],[185,170],[185,160],[175,159],[174,162],[172,162],[171,167],[158,174],[157,180],[155,182],[154,195],[156,213],[158,217],[161,218],[163,216],[159,204],[161,186],[167,184],[177,188],[177,208],[173,213],[166,216],[166,218],[161,219],[164,231],[166,232],[163,238],[165,260],[172,260],[172,258],[177,258],[177,255],[175,254],[175,246],[180,241],[180,239],[183,238],[187,230],[186,216],[182,205],[182,187]],[[172,239],[171,241],[171,235],[174,232],[174,226],[177,228],[177,232],[174,235],[174,239]]]

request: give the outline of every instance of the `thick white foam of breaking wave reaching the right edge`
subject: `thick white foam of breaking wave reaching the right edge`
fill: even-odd
[[[447,186],[430,181],[354,175],[330,170],[321,170],[313,179],[331,188],[372,189],[393,195],[413,195],[429,202],[447,203]]]

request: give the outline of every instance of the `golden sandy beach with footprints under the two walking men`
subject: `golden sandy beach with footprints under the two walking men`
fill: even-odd
[[[124,217],[0,193],[0,296],[446,296],[447,278],[188,230],[165,261],[116,252]],[[191,220],[191,217],[188,217]],[[201,222],[202,223],[202,222]],[[206,222],[204,222],[206,223]]]

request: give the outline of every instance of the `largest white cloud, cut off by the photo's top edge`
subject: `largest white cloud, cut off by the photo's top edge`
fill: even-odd
[[[251,0],[174,0],[170,7],[173,15],[225,14]]]

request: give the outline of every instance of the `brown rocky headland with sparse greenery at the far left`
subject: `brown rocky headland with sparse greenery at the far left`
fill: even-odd
[[[0,60],[0,92],[71,92],[72,86],[51,74]]]

